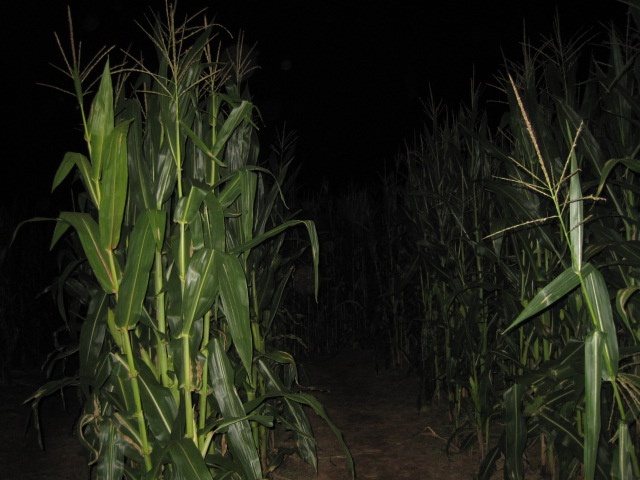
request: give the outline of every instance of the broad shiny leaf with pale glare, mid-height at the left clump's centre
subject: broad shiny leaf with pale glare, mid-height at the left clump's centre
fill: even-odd
[[[219,252],[198,250],[189,261],[182,297],[182,334],[189,335],[191,325],[211,308],[218,295],[219,279],[216,258]]]

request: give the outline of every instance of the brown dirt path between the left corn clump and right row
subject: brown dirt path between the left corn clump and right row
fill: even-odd
[[[448,457],[444,449],[451,432],[445,411],[418,412],[418,379],[400,370],[376,374],[371,354],[349,352],[305,364],[316,395],[343,431],[353,455],[357,478],[471,479],[478,458],[468,453]],[[324,422],[312,418],[318,441],[319,480],[351,478],[344,454]],[[278,480],[313,478],[301,460],[291,457]]]

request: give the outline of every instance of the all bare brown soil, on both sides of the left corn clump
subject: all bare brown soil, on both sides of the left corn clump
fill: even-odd
[[[303,363],[315,395],[344,433],[361,480],[472,479],[477,450],[445,453],[452,427],[439,406],[416,409],[418,379],[406,370],[376,372],[368,351],[341,353]],[[12,386],[0,387],[0,477],[13,479],[86,480],[87,457],[75,437],[79,411],[74,394],[66,411],[59,397],[42,405],[44,451],[28,425],[30,408],[22,401],[39,384],[37,374],[18,374]],[[296,456],[273,474],[274,480],[342,480],[351,478],[344,452],[334,434],[309,413],[318,442],[319,472]],[[25,433],[26,430],[26,433]]]

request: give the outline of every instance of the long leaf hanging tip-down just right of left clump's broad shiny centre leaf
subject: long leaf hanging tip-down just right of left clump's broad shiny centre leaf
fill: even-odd
[[[247,278],[237,257],[216,254],[216,272],[220,281],[220,297],[233,344],[247,374],[251,375],[253,337],[249,320]]]

